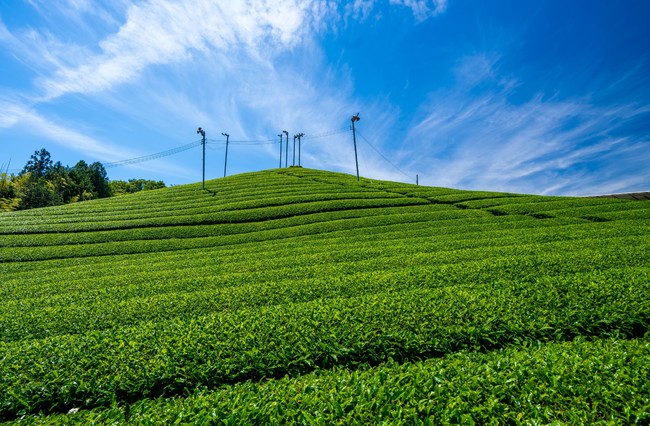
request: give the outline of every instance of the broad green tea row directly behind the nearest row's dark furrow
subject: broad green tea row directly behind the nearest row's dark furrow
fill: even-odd
[[[1,343],[0,415],[182,394],[335,365],[375,365],[576,336],[635,338],[647,270],[387,290],[104,332]],[[612,279],[615,278],[615,279]],[[604,285],[607,284],[607,285]]]

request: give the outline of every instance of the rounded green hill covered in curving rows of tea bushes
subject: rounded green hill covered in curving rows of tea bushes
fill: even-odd
[[[206,189],[0,215],[0,420],[650,422],[650,202]]]

